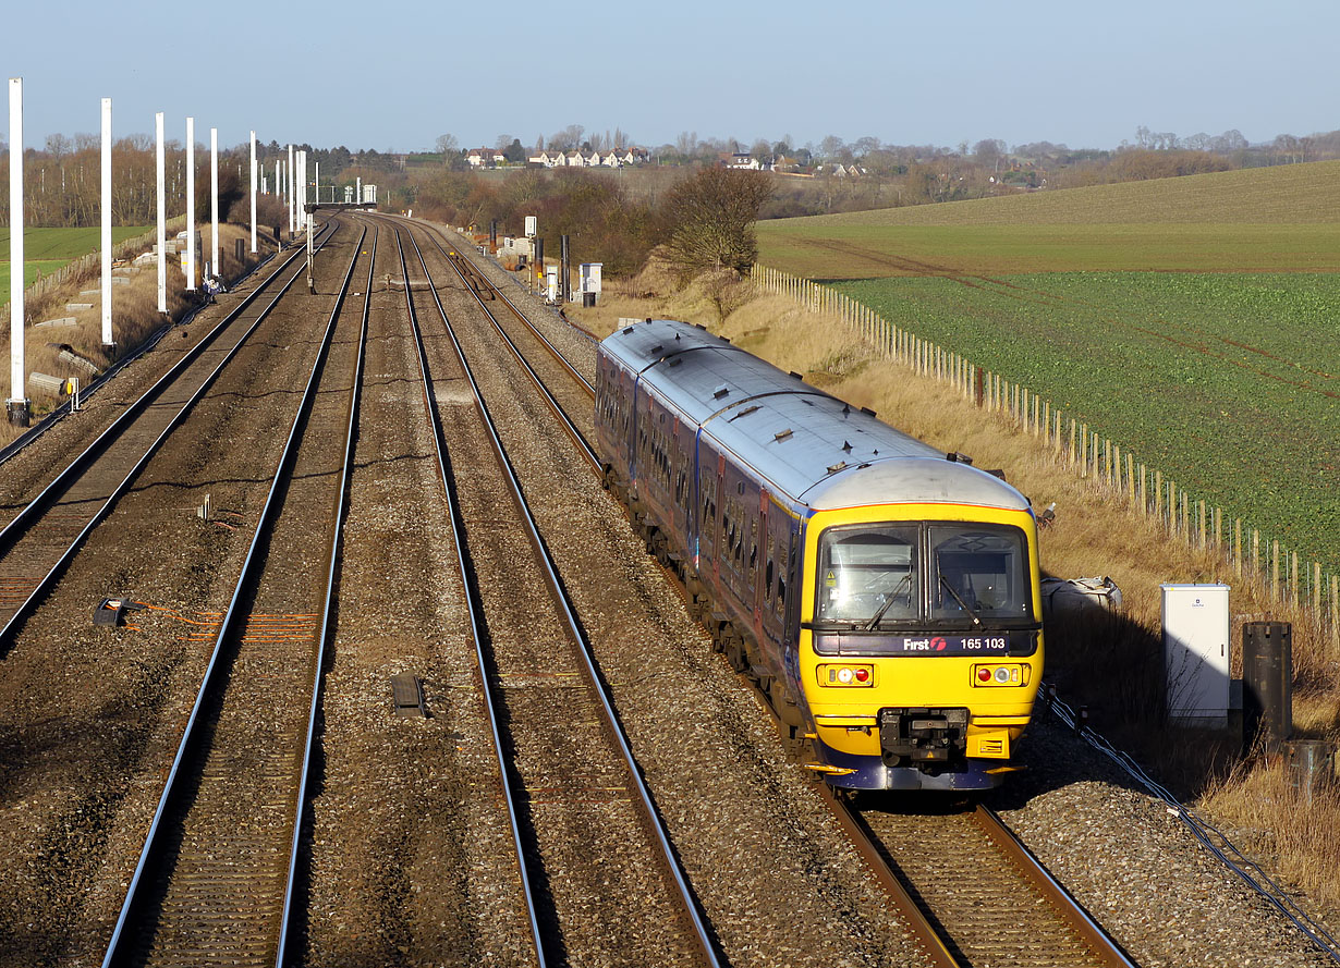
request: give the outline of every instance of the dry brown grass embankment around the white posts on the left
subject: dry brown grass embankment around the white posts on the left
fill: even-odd
[[[247,253],[243,264],[233,256],[236,240],[245,238],[247,248],[251,241],[251,228],[224,224],[220,226],[220,249],[224,273],[228,278],[241,276],[247,269],[264,258],[273,250],[273,240],[267,248],[265,236],[257,236],[257,257]],[[202,229],[202,248],[209,253],[209,226]],[[174,265],[174,257],[169,256],[168,264],[168,316],[178,320],[192,307],[197,304],[197,295],[188,293],[184,288],[185,278]],[[24,335],[25,372],[47,374],[67,379],[75,376],[84,386],[94,379],[84,368],[60,359],[60,349],[68,347],[75,353],[91,360],[99,371],[107,368],[117,359],[126,356],[139,348],[163,323],[158,313],[158,273],[153,264],[129,276],[129,285],[113,287],[113,336],[117,345],[113,351],[102,344],[102,299],[99,295],[80,296],[82,289],[100,287],[100,272],[94,268],[83,277],[71,278],[64,287],[48,293],[40,300],[28,300],[24,305],[28,317],[28,329]],[[92,303],[91,309],[67,311],[67,303]],[[76,323],[71,327],[43,327],[34,328],[35,323],[48,319],[72,316]],[[0,332],[0,359],[9,359],[9,331],[5,327]],[[7,387],[8,390],[8,387]],[[28,399],[34,420],[40,419],[60,403],[60,398],[40,390],[32,383],[28,384]],[[12,427],[0,420],[0,446],[16,439],[23,427]]]

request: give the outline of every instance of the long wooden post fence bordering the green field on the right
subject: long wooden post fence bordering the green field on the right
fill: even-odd
[[[1235,581],[1250,582],[1272,605],[1306,616],[1319,636],[1340,647],[1340,576],[1327,572],[1320,562],[1300,558],[1296,549],[1277,537],[1209,505],[1036,391],[894,325],[846,293],[760,264],[750,270],[750,280],[762,293],[784,296],[804,309],[840,319],[880,356],[946,384],[963,399],[1038,438],[1059,465],[1073,469],[1092,490],[1126,501],[1189,549],[1221,556]]]

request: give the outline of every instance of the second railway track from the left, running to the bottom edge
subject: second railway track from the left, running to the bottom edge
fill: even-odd
[[[316,361],[103,964],[279,965],[330,635],[367,304]],[[374,244],[375,250],[375,244]],[[364,287],[364,292],[368,287]]]

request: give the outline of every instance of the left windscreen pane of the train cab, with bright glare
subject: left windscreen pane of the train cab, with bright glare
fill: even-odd
[[[824,532],[819,549],[817,621],[882,623],[919,617],[917,525],[862,525]]]

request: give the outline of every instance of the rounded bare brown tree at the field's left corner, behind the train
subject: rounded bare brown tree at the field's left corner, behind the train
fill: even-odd
[[[721,167],[677,183],[663,208],[670,262],[686,277],[709,269],[748,270],[758,254],[753,225],[772,194],[772,177]]]

